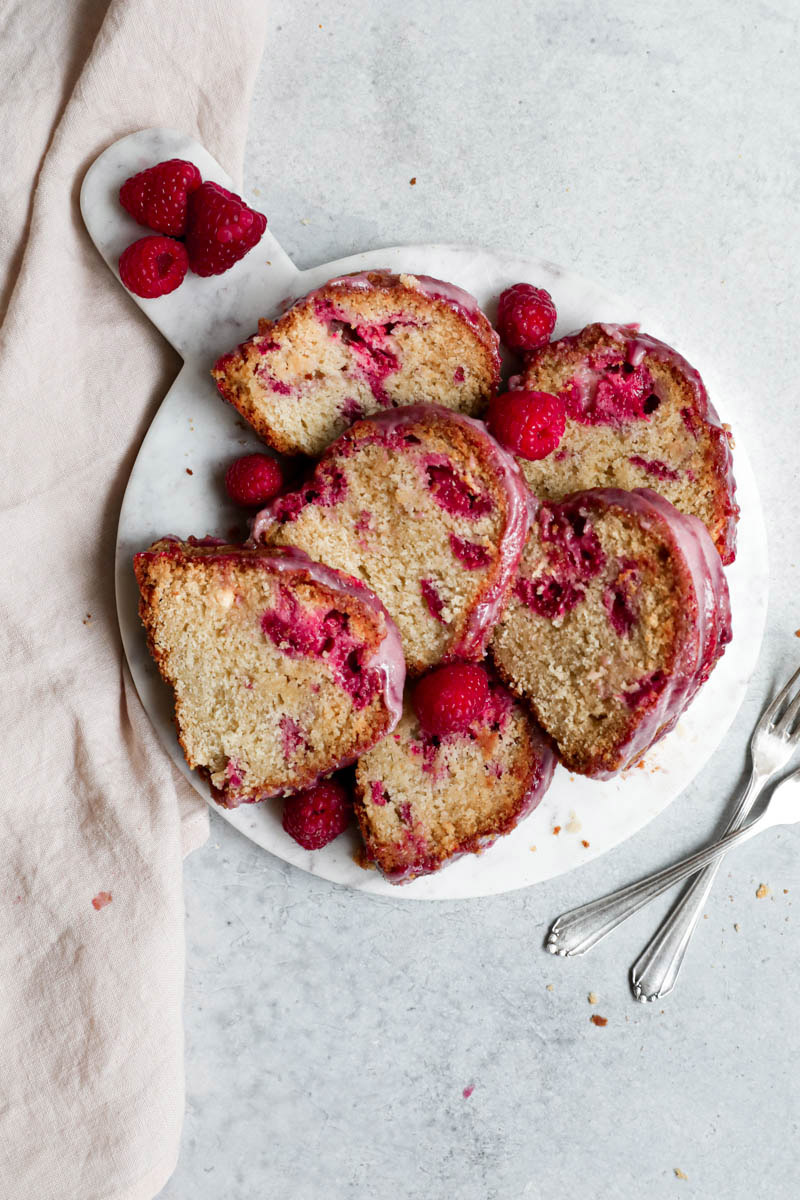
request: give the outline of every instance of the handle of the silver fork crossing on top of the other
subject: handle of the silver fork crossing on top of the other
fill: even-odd
[[[762,829],[768,829],[774,822],[769,820],[768,812],[751,821],[744,829],[732,830],[718,841],[698,850],[696,854],[690,854],[674,866],[667,866],[663,871],[649,875],[638,883],[630,883],[619,892],[612,892],[600,900],[591,900],[589,904],[572,908],[558,918],[551,926],[547,937],[547,949],[551,954],[573,955],[585,954],[593,946],[602,941],[624,920],[632,917],[639,908],[667,892],[675,883],[680,883],[688,875],[694,875],[703,866],[714,863],[716,859],[732,850],[734,846],[754,838]]]

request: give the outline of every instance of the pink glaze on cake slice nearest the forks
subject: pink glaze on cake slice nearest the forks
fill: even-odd
[[[720,556],[703,522],[679,512],[657,492],[599,487],[578,492],[557,508],[569,518],[575,514],[588,517],[593,509],[606,506],[633,514],[643,528],[656,529],[670,542],[685,588],[686,623],[670,674],[642,679],[620,696],[638,715],[620,748],[621,761],[630,766],[673,728],[708,679],[730,641],[730,601]],[[613,774],[597,772],[595,778]]]

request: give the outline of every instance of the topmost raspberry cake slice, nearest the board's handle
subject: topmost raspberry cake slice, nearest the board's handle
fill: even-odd
[[[468,292],[427,275],[329,280],[224,354],[222,396],[282,454],[318,455],[348,425],[420,396],[480,412],[498,386],[498,337]]]

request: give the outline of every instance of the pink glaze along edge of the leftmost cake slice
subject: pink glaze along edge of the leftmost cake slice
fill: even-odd
[[[140,554],[134,556],[136,559],[152,559],[160,557],[203,557],[211,563],[217,563],[221,565],[233,565],[242,560],[254,562],[263,570],[275,574],[277,576],[285,576],[287,581],[291,577],[308,578],[320,587],[324,587],[333,593],[333,596],[342,595],[349,596],[357,600],[360,604],[365,605],[373,613],[383,619],[384,624],[384,637],[375,652],[362,662],[361,667],[365,673],[377,673],[380,680],[380,691],[383,703],[389,713],[389,726],[386,733],[397,726],[402,713],[403,713],[403,688],[405,684],[405,660],[403,658],[403,647],[401,642],[401,636],[397,630],[397,625],[392,618],[386,612],[386,608],[380,602],[378,596],[368,587],[361,583],[359,580],[354,580],[351,576],[345,575],[343,571],[336,571],[330,566],[324,566],[321,563],[313,563],[311,558],[303,553],[301,550],[294,547],[271,547],[270,550],[258,550],[247,546],[230,546],[218,538],[188,538],[186,541],[181,541],[179,538],[167,535],[160,539],[164,545],[157,545],[158,548],[150,548],[142,551]],[[313,690],[313,689],[312,689]],[[236,770],[235,760],[234,770]],[[327,774],[330,770],[335,770],[338,767],[347,766],[351,760],[345,758],[339,763],[331,763],[329,768],[323,774]],[[266,799],[266,797],[239,797],[235,794],[228,794],[227,792],[219,792],[212,787],[213,798],[225,808],[235,808],[242,799],[254,800],[254,799]]]

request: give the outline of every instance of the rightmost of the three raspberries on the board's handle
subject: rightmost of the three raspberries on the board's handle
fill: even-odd
[[[266,217],[218,184],[200,184],[188,202],[186,248],[196,275],[222,275],[260,241]]]

